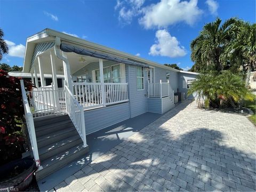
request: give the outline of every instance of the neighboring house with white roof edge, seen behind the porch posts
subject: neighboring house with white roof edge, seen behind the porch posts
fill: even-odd
[[[33,74],[33,78],[31,79],[30,73],[23,73],[21,71],[10,71],[8,75],[13,77],[22,77],[25,81],[31,81],[35,85],[35,75]],[[37,87],[41,87],[41,79],[40,74],[37,74],[38,85]],[[51,74],[44,74],[44,83],[46,86],[51,85],[52,83],[52,75]],[[63,87],[64,85],[64,75],[57,75],[57,84],[58,87]],[[36,85],[35,85],[36,86]]]

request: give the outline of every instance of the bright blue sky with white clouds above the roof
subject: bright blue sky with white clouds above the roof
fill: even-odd
[[[26,38],[45,28],[73,34],[158,63],[188,69],[190,42],[216,17],[255,22],[255,0],[3,1],[0,28],[9,55],[23,65]]]

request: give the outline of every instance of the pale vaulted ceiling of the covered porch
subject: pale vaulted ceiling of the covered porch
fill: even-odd
[[[53,51],[53,49],[47,50],[44,53],[42,53],[41,56],[41,63],[43,64],[43,71],[44,74],[52,74],[52,67],[51,67],[51,58],[50,58],[50,51]],[[84,55],[79,55],[76,53],[65,53],[67,55],[68,61],[69,61],[69,65],[70,65],[70,72],[71,75],[74,74],[77,70],[85,67],[86,65],[88,65],[91,62],[97,62],[99,61],[98,58],[93,58],[90,56],[84,56]],[[83,57],[85,59],[85,62],[79,62],[79,59],[81,59],[81,57]],[[55,66],[56,66],[56,73],[58,75],[63,75],[63,62],[62,60],[58,59],[57,57],[55,57]],[[36,59],[34,62],[34,66],[36,66],[37,71],[39,71],[38,69],[38,60]]]

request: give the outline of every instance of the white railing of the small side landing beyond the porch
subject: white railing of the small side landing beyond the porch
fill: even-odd
[[[169,96],[170,84],[167,83],[149,83],[148,82],[148,97],[150,98],[162,98]]]

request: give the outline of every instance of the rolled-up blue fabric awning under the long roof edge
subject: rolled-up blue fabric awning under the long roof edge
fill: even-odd
[[[109,60],[109,61],[120,62],[120,63],[124,63],[124,64],[127,64],[127,65],[149,67],[149,65],[147,65],[146,63],[131,61],[131,60],[128,60],[128,59],[122,59],[122,58],[114,57],[114,56],[109,55],[109,54],[87,50],[87,49],[84,49],[82,47],[77,47],[77,46],[69,45],[69,44],[66,44],[66,43],[61,43],[60,49],[63,52],[74,52],[74,53],[81,54],[81,55],[86,55],[86,56],[95,57],[95,58],[99,58],[99,59],[106,59],[106,60]]]

